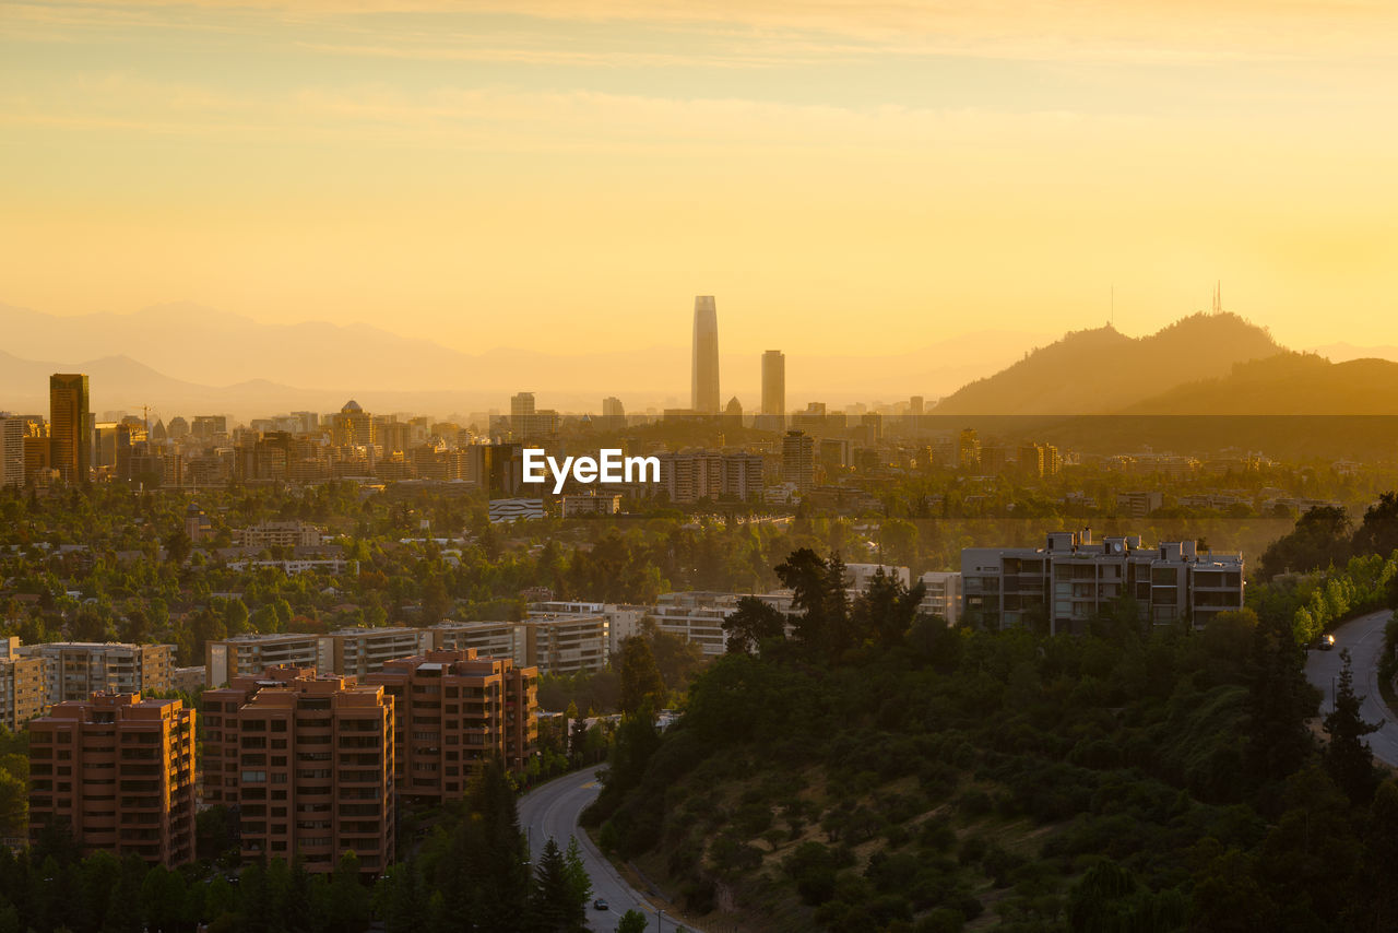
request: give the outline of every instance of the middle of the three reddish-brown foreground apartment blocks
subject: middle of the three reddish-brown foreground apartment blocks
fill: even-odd
[[[383,687],[268,667],[206,690],[204,802],[236,806],[243,859],[301,856],[365,874],[394,853],[394,704]]]

